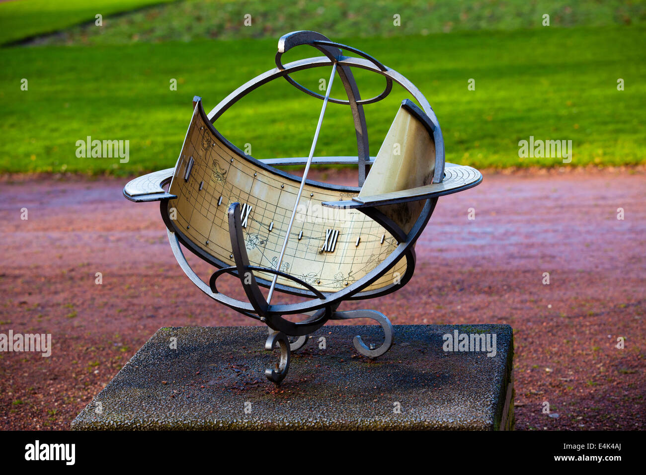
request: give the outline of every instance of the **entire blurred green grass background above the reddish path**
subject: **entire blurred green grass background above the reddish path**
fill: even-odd
[[[519,140],[534,136],[572,140],[568,166],[643,164],[645,18],[646,3],[631,0],[6,1],[0,171],[131,175],[171,167],[193,96],[208,111],[274,66],[278,37],[304,29],[412,80],[439,118],[449,162],[563,166],[560,158],[518,156]],[[286,56],[318,52],[300,47]],[[382,90],[380,76],[356,74],[362,97]],[[317,89],[329,72],[297,76]],[[332,95],[343,97],[336,88]],[[371,154],[406,97],[395,89],[366,107]],[[303,156],[319,110],[320,101],[274,81],[215,125],[238,147],[250,143],[256,158]],[[77,158],[75,143],[87,136],[129,140],[129,162]],[[354,148],[349,109],[331,105],[317,154]]]

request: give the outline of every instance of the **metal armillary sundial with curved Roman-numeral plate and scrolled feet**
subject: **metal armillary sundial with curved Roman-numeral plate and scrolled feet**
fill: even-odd
[[[282,55],[300,45],[316,48],[322,56],[284,65]],[[123,194],[135,202],[160,202],[172,252],[200,290],[267,324],[265,348],[280,348],[280,363],[265,374],[280,383],[289,370],[291,352],[302,348],[307,335],[329,320],[373,319],[384,330],[384,342],[367,345],[357,335],[353,340],[357,352],[376,358],[390,349],[392,325],[385,315],[376,310],[343,311],[340,305],[404,286],[415,268],[415,241],[438,197],[473,187],[482,175],[466,165],[445,163],[441,128],[428,100],[402,74],[368,54],[317,32],[298,31],[279,39],[275,63],[274,69],[243,84],[208,113],[202,99],[194,97],[176,165],[132,180]],[[324,96],[289,76],[315,67],[330,74]],[[386,87],[378,96],[362,99],[353,68],[381,74]],[[286,79],[322,100],[308,156],[256,160],[217,130],[218,118],[227,109],[274,79]],[[331,96],[335,80],[342,83],[346,98]],[[410,97],[393,111],[390,130],[377,155],[371,156],[363,108],[388,96],[395,83]],[[329,102],[350,107],[357,154],[315,156]],[[309,180],[312,164],[356,164],[359,184]],[[303,176],[280,168],[286,165],[304,165]],[[216,268],[209,282],[189,266],[184,249]],[[246,300],[218,290],[217,280],[224,273],[240,279]],[[268,291],[263,293],[263,288]],[[276,302],[276,292],[305,299]]]

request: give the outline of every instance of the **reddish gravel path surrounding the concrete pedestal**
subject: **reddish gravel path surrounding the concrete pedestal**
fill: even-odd
[[[511,324],[517,429],[644,428],[645,178],[485,174],[441,198],[405,288],[343,308],[367,303],[395,324]],[[0,353],[0,428],[68,428],[161,326],[252,323],[191,284],[158,206],[127,202],[125,181],[0,182],[0,333],[52,333],[54,347]]]

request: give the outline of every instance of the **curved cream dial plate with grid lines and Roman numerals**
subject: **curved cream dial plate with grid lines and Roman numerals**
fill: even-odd
[[[315,182],[314,182],[315,183]],[[397,240],[356,209],[332,209],[322,202],[350,200],[356,189],[306,182],[281,271],[323,292],[334,292],[359,280],[397,246]],[[169,216],[195,246],[233,266],[227,210],[244,206],[244,240],[252,266],[275,268],[285,230],[297,198],[300,179],[245,156],[219,132],[198,103],[174,171]],[[174,209],[174,211],[173,211]],[[406,260],[365,290],[390,285],[404,275]],[[256,277],[273,279],[269,273]],[[278,283],[303,289],[295,282]]]

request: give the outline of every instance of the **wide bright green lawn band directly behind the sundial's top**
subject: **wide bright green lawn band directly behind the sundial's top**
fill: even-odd
[[[518,140],[572,140],[573,165],[644,163],[646,61],[643,27],[541,28],[390,39],[345,39],[413,81],[443,127],[447,160],[478,167],[554,165],[517,156]],[[273,66],[276,40],[195,41],[123,46],[0,50],[0,169],[136,173],[174,165],[191,98],[213,107],[247,79]],[[43,54],[47,51],[47,54]],[[309,53],[309,52],[307,52]],[[301,55],[306,54],[300,52]],[[293,59],[295,59],[293,57]],[[315,87],[329,71],[304,75]],[[28,78],[29,90],[19,89]],[[169,79],[178,90],[169,90]],[[476,90],[467,90],[475,78]],[[625,79],[625,91],[616,89]],[[360,74],[364,97],[377,76]],[[335,92],[341,90],[337,84]],[[397,92],[395,94],[395,92]],[[401,89],[366,106],[371,153],[406,97]],[[320,101],[286,81],[264,87],[216,126],[252,154],[302,156]],[[76,158],[76,140],[130,140],[130,162]],[[317,154],[352,154],[346,107],[331,105]]]

